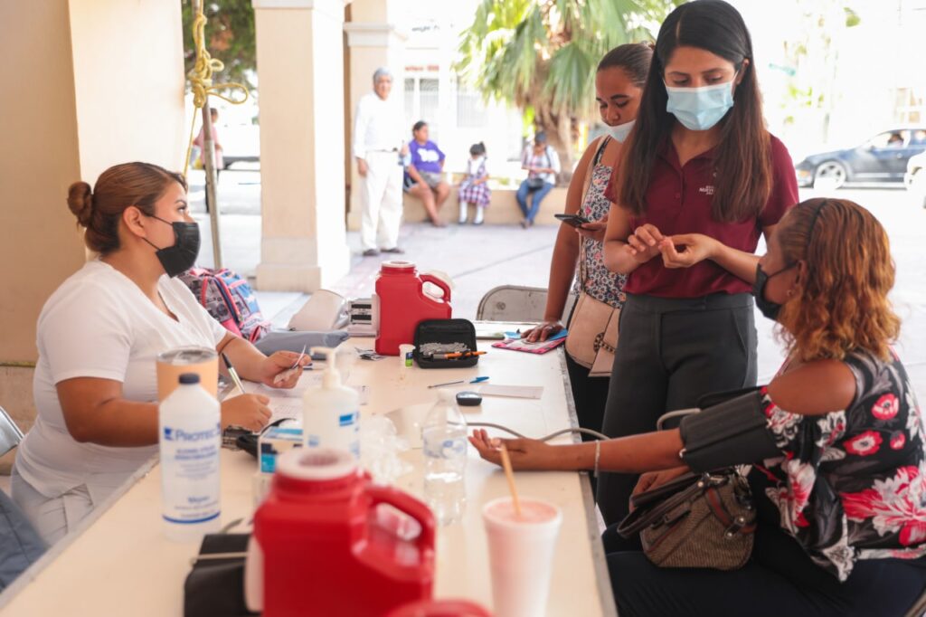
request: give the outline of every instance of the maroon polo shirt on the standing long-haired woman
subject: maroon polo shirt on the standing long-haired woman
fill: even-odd
[[[631,227],[652,223],[663,235],[703,233],[724,245],[755,253],[762,229],[776,224],[797,203],[797,179],[791,155],[771,135],[772,185],[765,208],[757,216],[739,222],[719,222],[710,214],[716,171],[714,150],[692,158],[684,166],[671,139],[659,151],[646,189],[646,213],[632,217]],[[606,195],[614,199],[614,177]],[[666,268],[657,256],[632,271],[624,285],[628,294],[660,297],[700,297],[708,294],[741,294],[752,285],[705,259],[691,268]]]

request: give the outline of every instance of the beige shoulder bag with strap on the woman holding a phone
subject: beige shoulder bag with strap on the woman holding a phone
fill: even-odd
[[[607,140],[602,142],[604,150]],[[598,157],[595,157],[597,159]],[[594,167],[594,166],[593,166]],[[592,174],[585,170],[582,204],[592,183]],[[620,309],[614,308],[585,293],[585,243],[581,241],[579,254],[579,299],[569,318],[566,336],[566,353],[576,364],[589,369],[589,377],[610,377],[614,366],[614,352],[618,345]]]

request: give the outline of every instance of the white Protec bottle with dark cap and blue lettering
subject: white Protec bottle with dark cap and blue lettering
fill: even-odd
[[[184,372],[158,413],[165,535],[180,542],[219,531],[219,401]]]

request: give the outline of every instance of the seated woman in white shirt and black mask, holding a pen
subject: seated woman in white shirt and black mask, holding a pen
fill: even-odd
[[[227,354],[245,379],[291,388],[299,377],[274,384],[298,356],[260,353],[173,278],[199,252],[180,174],[147,163],[117,165],[93,193],[87,183],[72,184],[68,206],[99,257],[62,283],[39,316],[38,414],[11,481],[13,499],[49,544],[156,454],[157,354],[208,346]],[[224,401],[222,428],[260,430],[268,402],[257,395]]]

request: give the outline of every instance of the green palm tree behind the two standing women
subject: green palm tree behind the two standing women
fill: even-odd
[[[522,109],[571,175],[578,122],[594,112],[594,68],[607,50],[653,38],[682,0],[482,0],[461,35],[462,80]]]

